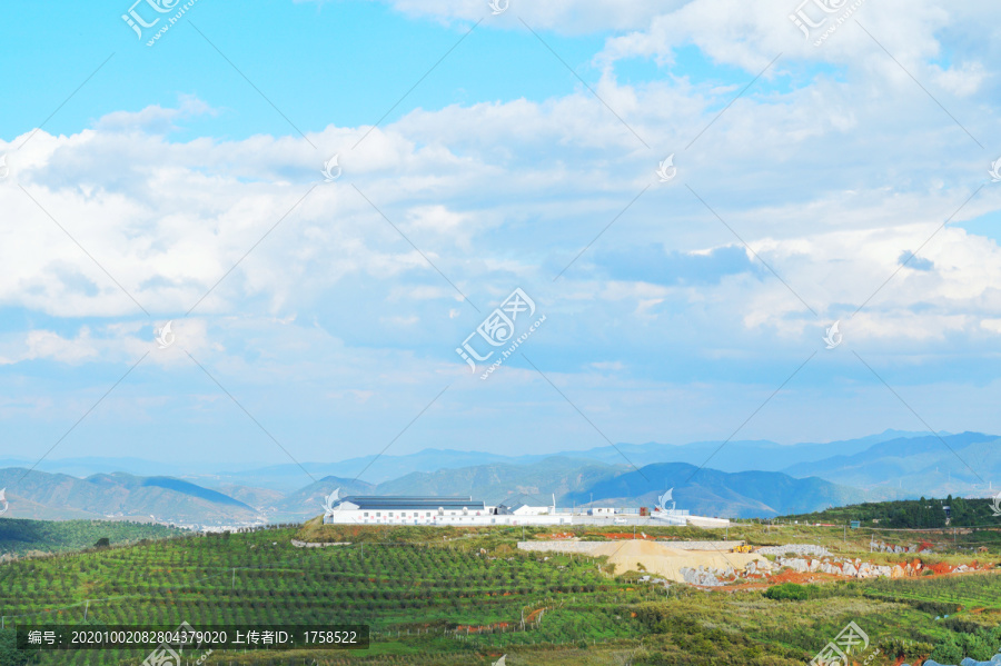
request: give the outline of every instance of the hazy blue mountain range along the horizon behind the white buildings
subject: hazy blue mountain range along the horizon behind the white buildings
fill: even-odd
[[[23,468],[0,469],[0,487],[8,490],[7,516],[43,519],[301,520],[319,514],[323,498],[337,487],[341,496],[468,494],[487,504],[549,505],[555,495],[559,506],[592,498],[597,506],[652,506],[674,487],[678,508],[695,514],[767,517],[922,495],[982,497],[1001,485],[999,444],[981,433],[888,430],[827,444],[620,444],[548,456],[425,449],[304,464],[309,476],[294,464],[188,474],[137,458],[123,461],[130,470],[153,473],[137,475],[116,470],[113,459],[76,458],[46,461],[39,468],[47,471],[36,469],[23,480]],[[363,471],[365,480],[354,478]],[[79,478],[82,473],[88,474]]]

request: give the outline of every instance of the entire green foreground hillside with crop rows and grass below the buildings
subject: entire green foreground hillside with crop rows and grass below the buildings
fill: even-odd
[[[578,536],[598,531],[581,529]],[[647,534],[654,531],[660,538],[724,536],[666,527]],[[731,528],[729,537],[756,545],[821,543],[869,557],[870,534],[854,531],[752,524]],[[924,536],[942,548],[952,537]],[[296,548],[293,538],[351,545]],[[0,615],[7,627],[0,634],[0,663],[24,663],[26,655],[9,649],[9,627],[44,623],[188,622],[196,628],[347,623],[373,630],[367,650],[217,650],[205,658],[207,665],[490,664],[507,654],[513,665],[781,666],[805,663],[850,622],[880,647],[870,662],[874,665],[893,664],[898,655],[913,659],[959,650],[962,656],[1001,647],[1001,634],[991,634],[1001,622],[1001,576],[992,573],[825,583],[807,586],[803,600],[775,600],[761,589],[665,589],[638,583],[636,573],[616,578],[602,560],[519,551],[515,546],[522,538],[519,528],[359,528],[313,521],[303,528],[21,559],[0,567]],[[981,533],[955,538],[957,549],[990,540]],[[992,553],[980,554],[981,560],[997,561],[997,546],[989,548]],[[969,561],[962,553],[933,558]],[[140,664],[146,654],[42,652],[30,663],[121,666]]]

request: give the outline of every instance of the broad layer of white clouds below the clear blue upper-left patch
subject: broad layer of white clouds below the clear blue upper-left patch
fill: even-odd
[[[28,431],[38,409],[71,409],[69,394],[39,407],[58,368],[86,392],[103,384],[83,369],[113,377],[149,351],[151,370],[240,387],[306,457],[388,440],[373,421],[403,427],[445,386],[450,417],[414,446],[503,446],[518,426],[474,440],[511,412],[554,437],[574,423],[556,448],[601,445],[533,364],[613,440],[725,438],[816,351],[742,437],[913,429],[880,377],[918,402],[957,391],[924,407],[936,429],[1001,429],[963,407],[992,395],[1001,335],[1001,251],[970,226],[1001,208],[999,10],[975,4],[866,2],[814,47],[777,0],[512,0],[489,29],[603,37],[587,87],[239,140],[178,139],[221,112],[185,95],[10,137],[0,364],[38,398],[10,418]],[[417,26],[486,11],[393,7]],[[455,349],[515,287],[546,325],[487,389]],[[158,349],[167,320],[177,346]],[[138,381],[133,425],[218,397],[212,381],[187,397]],[[884,409],[843,425],[860,400]],[[565,421],[546,421],[554,405]],[[228,418],[246,417],[210,420]]]

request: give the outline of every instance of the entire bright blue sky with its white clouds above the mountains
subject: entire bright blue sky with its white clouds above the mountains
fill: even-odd
[[[128,10],[0,27],[0,455],[1001,431],[993,6]]]

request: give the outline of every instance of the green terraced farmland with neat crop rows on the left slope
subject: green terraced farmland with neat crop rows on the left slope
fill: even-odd
[[[591,560],[497,557],[438,544],[303,549],[290,545],[294,534],[188,537],[13,563],[0,569],[0,613],[6,626],[82,623],[86,614],[89,624],[109,625],[368,624],[379,635],[415,637],[454,636],[463,627],[475,639],[521,630],[523,617],[531,628],[537,609],[569,603],[595,616],[569,623],[574,636],[593,643],[638,630],[609,630],[608,608],[641,596]],[[514,640],[566,640],[562,626],[546,622],[545,632]],[[59,663],[116,663],[108,659],[82,653]]]

